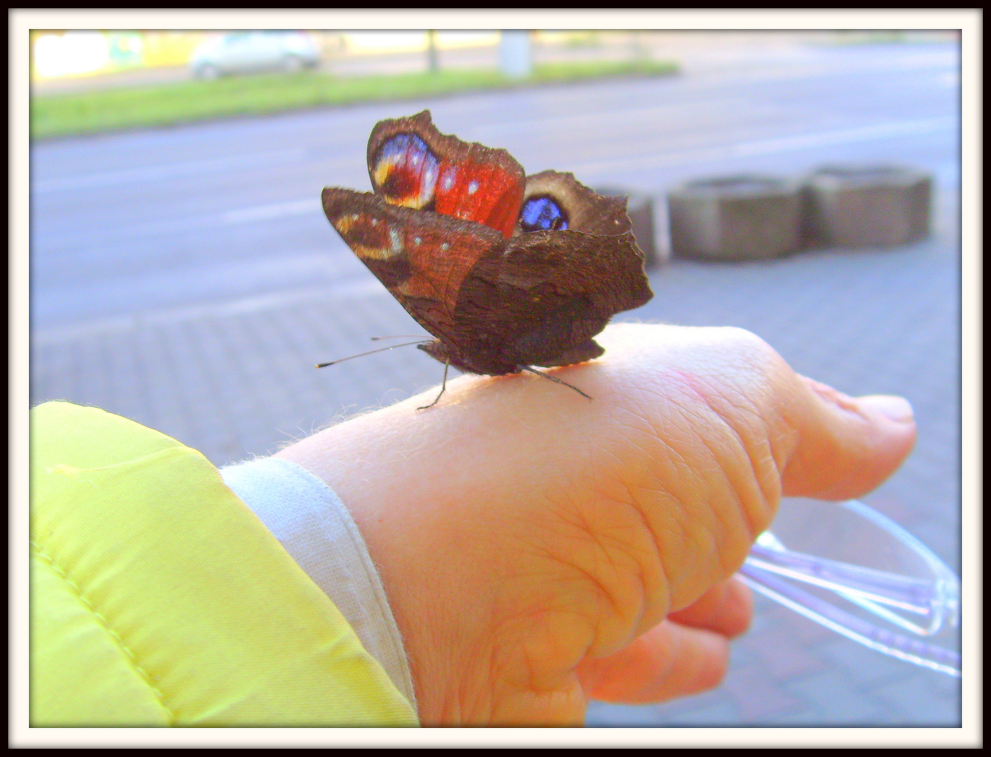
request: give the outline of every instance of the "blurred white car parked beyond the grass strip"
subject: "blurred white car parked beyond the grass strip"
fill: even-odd
[[[281,30],[229,32],[210,37],[196,48],[189,60],[196,78],[263,70],[294,73],[318,63],[320,53],[309,35]]]

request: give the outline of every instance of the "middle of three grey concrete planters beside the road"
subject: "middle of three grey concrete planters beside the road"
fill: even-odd
[[[671,249],[708,260],[777,258],[801,247],[796,183],[765,176],[700,179],[668,193]]]

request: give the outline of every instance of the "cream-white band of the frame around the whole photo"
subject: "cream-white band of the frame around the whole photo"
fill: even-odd
[[[981,37],[970,10],[8,10],[10,55],[10,735],[14,746],[935,746],[981,743]],[[28,727],[29,29],[961,30],[962,728],[140,729]]]

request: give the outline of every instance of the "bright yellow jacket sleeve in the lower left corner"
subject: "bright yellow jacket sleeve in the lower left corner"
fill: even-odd
[[[202,454],[68,403],[31,425],[32,726],[417,724]]]

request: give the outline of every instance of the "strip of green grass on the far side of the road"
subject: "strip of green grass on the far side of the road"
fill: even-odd
[[[677,70],[675,63],[629,61],[538,65],[526,79],[511,79],[487,69],[349,77],[301,72],[35,95],[31,99],[31,137],[67,137],[170,126],[225,116],[262,115],[326,105],[404,100],[611,76],[656,76]]]

